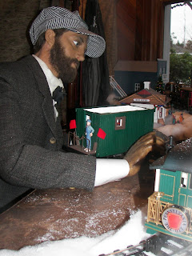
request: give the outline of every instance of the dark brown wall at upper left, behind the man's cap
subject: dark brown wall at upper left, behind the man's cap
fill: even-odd
[[[30,54],[27,36],[31,20],[50,0],[0,1],[0,62],[14,61]]]

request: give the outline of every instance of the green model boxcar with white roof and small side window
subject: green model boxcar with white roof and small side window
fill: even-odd
[[[94,147],[96,157],[101,158],[126,152],[138,138],[152,131],[154,110],[137,106],[78,108],[76,109],[78,138],[83,136],[85,138],[87,119],[91,120],[91,126],[94,128],[91,146]],[[100,136],[101,132],[105,136]],[[86,146],[86,140],[80,143]]]

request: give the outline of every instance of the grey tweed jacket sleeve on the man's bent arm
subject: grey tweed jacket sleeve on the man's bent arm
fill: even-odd
[[[32,134],[28,131],[33,142],[26,140],[27,127],[23,129],[23,123],[27,120],[23,120],[21,94],[15,87],[14,78],[0,77],[0,177],[14,186],[34,189],[73,186],[93,190],[94,157],[48,150],[40,145],[38,130],[38,135],[33,134],[38,121],[33,123]]]

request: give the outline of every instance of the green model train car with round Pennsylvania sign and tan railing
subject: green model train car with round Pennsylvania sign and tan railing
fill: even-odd
[[[148,199],[147,232],[159,231],[192,241],[192,138],[174,146],[156,169],[154,194]]]

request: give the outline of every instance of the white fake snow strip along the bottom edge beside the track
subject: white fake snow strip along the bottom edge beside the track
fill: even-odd
[[[149,238],[146,234],[146,209],[134,212],[130,220],[118,230],[102,234],[96,238],[80,237],[63,239],[54,242],[42,242],[37,246],[26,246],[21,250],[0,250],[0,256],[98,256],[109,254],[114,250],[136,245],[143,239]]]

